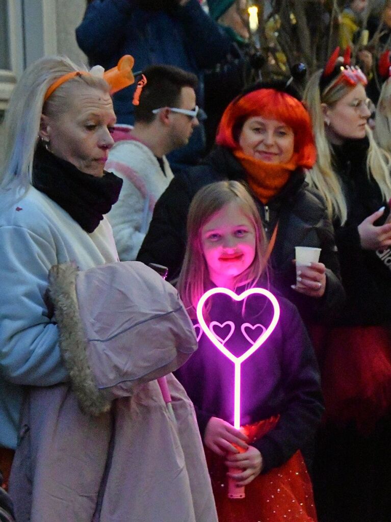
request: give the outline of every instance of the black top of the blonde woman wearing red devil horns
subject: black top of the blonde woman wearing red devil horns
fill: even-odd
[[[368,178],[366,156],[369,142],[347,140],[335,148],[334,167],[342,182],[348,206],[343,226],[335,221],[335,238],[341,265],[342,283],[347,294],[346,306],[338,316],[342,326],[391,323],[391,248],[385,251],[363,250],[359,224],[380,207],[386,210],[375,226],[384,223],[389,207],[377,183]]]

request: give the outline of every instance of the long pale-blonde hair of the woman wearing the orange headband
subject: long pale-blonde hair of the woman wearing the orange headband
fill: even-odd
[[[65,56],[48,56],[32,63],[22,74],[9,101],[5,117],[5,162],[0,170],[1,188],[26,191],[32,180],[32,164],[38,144],[41,114],[64,114],[72,104],[75,89],[86,85],[103,92],[110,87],[103,78],[80,75],[65,81],[44,102],[46,90],[67,73],[87,71]]]

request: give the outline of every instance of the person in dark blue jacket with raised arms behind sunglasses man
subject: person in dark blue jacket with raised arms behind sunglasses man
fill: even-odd
[[[203,108],[204,72],[224,60],[231,51],[232,40],[198,0],[87,0],[87,3],[76,39],[91,65],[108,69],[124,54],[131,54],[135,71],[153,64],[181,67],[197,76],[197,104]],[[129,103],[134,90],[135,86],[130,86],[114,95],[119,123],[134,124],[133,106]],[[173,171],[194,165],[204,151],[205,129],[200,124],[189,143],[170,154]]]

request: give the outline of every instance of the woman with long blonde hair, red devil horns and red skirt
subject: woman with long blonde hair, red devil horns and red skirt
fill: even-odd
[[[319,434],[319,519],[389,520],[391,509],[391,180],[366,124],[366,78],[339,49],[304,98],[318,156],[307,180],[333,219],[347,303],[319,346],[326,424]]]

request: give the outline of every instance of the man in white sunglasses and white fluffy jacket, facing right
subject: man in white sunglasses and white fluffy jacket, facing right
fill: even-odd
[[[197,77],[170,65],[146,68],[133,99],[134,127],[117,125],[106,170],[124,180],[108,218],[121,261],[136,258],[153,207],[173,174],[165,155],[187,145],[199,125]]]

